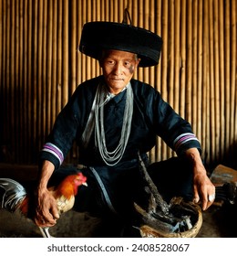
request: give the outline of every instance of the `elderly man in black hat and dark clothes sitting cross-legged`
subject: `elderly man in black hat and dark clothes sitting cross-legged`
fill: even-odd
[[[40,155],[36,224],[50,227],[58,214],[47,191],[50,177],[70,173],[60,167],[74,141],[88,187],[75,208],[99,216],[129,218],[133,202],[146,200],[138,152],[166,200],[181,196],[202,209],[211,206],[215,187],[201,162],[201,144],[183,120],[149,84],[132,79],[138,67],[157,65],[161,38],[127,24],[91,22],[83,27],[80,50],[98,59],[103,75],[77,87],[59,113]],[[147,153],[160,136],[178,155],[149,165]]]

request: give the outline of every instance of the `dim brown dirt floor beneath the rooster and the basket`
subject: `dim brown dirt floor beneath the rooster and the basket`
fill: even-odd
[[[203,212],[203,223],[198,238],[233,238],[237,237],[236,206],[211,206]],[[50,234],[57,238],[119,237],[111,224],[106,227],[100,219],[73,210],[65,213],[57,225],[50,229]],[[18,213],[0,211],[0,237],[39,238],[41,233],[32,220]]]

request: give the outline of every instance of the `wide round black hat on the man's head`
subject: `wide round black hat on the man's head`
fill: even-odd
[[[157,65],[162,39],[141,27],[116,22],[88,22],[82,29],[79,50],[98,59],[102,49],[118,49],[138,54],[140,67]]]

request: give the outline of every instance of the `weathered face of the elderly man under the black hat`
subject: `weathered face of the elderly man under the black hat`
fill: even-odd
[[[104,50],[100,67],[110,92],[118,94],[131,80],[139,65],[137,55],[121,50]]]

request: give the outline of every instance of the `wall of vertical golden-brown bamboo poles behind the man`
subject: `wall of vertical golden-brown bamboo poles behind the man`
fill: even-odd
[[[77,50],[83,24],[121,22],[126,7],[164,41],[159,66],[135,78],[191,122],[207,164],[236,164],[236,0],[0,0],[0,162],[37,162],[68,97],[100,74]],[[149,154],[171,155],[160,139]]]

